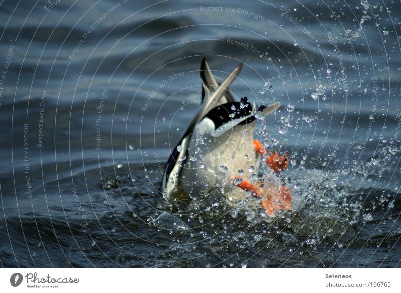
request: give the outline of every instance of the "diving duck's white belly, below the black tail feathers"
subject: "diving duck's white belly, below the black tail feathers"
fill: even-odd
[[[245,192],[233,185],[233,178],[250,180],[258,170],[260,158],[254,150],[253,126],[238,127],[242,135],[227,131],[217,137],[196,137],[195,132],[179,182],[187,196],[194,198],[219,190],[233,201],[244,198]]]

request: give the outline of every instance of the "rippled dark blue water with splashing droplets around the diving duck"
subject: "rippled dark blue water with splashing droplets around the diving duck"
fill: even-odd
[[[1,4],[2,267],[399,267],[399,4],[46,3]],[[204,56],[281,102],[294,211],[163,199]]]

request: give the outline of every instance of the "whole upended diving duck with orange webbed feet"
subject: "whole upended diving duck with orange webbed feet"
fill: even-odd
[[[230,85],[242,67],[238,64],[219,80],[203,58],[202,102],[165,165],[161,189],[166,200],[220,193],[233,204],[249,196],[259,199],[268,215],[292,209],[290,189],[276,176],[286,169],[288,154],[268,152],[254,139],[256,122],[275,112],[280,102],[256,107],[247,97],[237,100]],[[268,168],[260,177],[263,164]]]

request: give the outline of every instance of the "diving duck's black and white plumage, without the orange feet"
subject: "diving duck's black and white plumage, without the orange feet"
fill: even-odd
[[[253,145],[257,117],[274,112],[280,103],[261,106],[244,97],[237,101],[230,84],[240,73],[242,63],[220,82],[204,58],[202,104],[167,161],[162,190],[166,198],[193,198],[214,190],[235,200],[235,176],[248,179],[248,169],[257,169],[260,157]],[[243,194],[243,192],[242,192]]]

